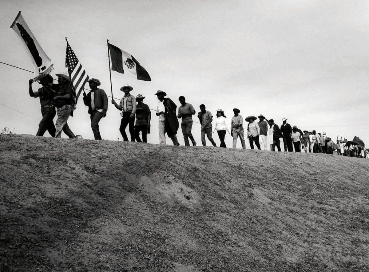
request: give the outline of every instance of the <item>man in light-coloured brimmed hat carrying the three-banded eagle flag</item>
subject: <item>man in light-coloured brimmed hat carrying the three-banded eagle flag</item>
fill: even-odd
[[[129,130],[131,134],[131,142],[135,141],[135,113],[136,113],[136,98],[130,94],[133,87],[129,84],[124,85],[120,88],[121,92],[124,92],[124,96],[120,100],[119,105],[111,100],[111,103],[118,109],[121,110],[122,120],[120,122],[119,131],[122,134],[123,141],[128,142],[127,134],[125,133],[125,128],[129,124]]]

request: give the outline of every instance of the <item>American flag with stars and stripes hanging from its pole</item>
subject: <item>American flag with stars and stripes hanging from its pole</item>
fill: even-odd
[[[89,76],[87,75],[85,69],[83,69],[81,63],[79,62],[77,56],[74,54],[72,48],[67,41],[67,50],[65,53],[65,67],[68,68],[69,77],[72,80],[73,89],[76,92],[76,103],[79,95],[81,94],[83,87]]]

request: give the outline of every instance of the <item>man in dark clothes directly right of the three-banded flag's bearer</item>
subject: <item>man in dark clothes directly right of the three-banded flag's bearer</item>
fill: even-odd
[[[137,142],[147,142],[147,133],[150,131],[151,111],[148,105],[144,104],[145,96],[137,94],[136,101],[136,124],[135,137]],[[142,141],[139,138],[139,132],[142,134]]]

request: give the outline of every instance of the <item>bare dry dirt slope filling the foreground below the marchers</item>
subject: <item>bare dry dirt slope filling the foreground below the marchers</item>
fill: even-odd
[[[369,163],[0,135],[0,271],[368,271]]]

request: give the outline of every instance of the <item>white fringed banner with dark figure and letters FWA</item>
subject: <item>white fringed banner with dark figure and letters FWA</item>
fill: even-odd
[[[20,11],[10,28],[17,34],[19,41],[35,66],[35,78],[33,80],[36,81],[48,75],[53,69],[51,59],[46,56],[44,50],[42,50],[41,46],[38,44]]]

